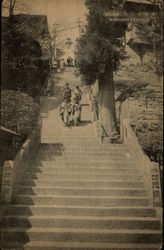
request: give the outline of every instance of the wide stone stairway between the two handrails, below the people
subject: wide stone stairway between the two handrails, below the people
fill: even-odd
[[[2,249],[160,249],[161,222],[124,144],[101,144],[84,95],[64,127],[56,97],[42,107],[36,161],[1,222]]]

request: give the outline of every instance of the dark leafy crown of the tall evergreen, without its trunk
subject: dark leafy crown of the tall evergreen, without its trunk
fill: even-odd
[[[123,47],[117,46],[117,38],[124,34],[126,23],[110,21],[106,11],[117,9],[122,1],[86,0],[88,8],[86,32],[77,43],[76,62],[88,84],[102,75],[107,65],[116,68],[124,57]]]

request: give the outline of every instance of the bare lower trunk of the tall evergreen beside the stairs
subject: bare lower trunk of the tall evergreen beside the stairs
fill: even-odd
[[[99,77],[99,93],[100,121],[108,137],[112,137],[114,133],[117,133],[112,64],[107,66],[104,74]]]

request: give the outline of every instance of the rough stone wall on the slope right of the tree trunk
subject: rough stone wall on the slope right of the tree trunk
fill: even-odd
[[[116,99],[120,94],[127,92],[127,96],[130,95],[128,97],[130,121],[134,130],[140,130],[143,124],[141,137],[148,137],[144,133],[151,131],[152,135],[153,133],[157,135],[159,143],[162,144],[163,79],[153,66],[154,55],[147,53],[141,64],[139,56],[128,46],[126,51],[128,59],[121,62],[119,70],[114,74]],[[117,105],[119,106],[119,102]],[[144,126],[149,128],[144,130]],[[156,128],[153,128],[155,126]],[[148,144],[149,139],[146,140]],[[141,140],[140,143],[142,145]]]

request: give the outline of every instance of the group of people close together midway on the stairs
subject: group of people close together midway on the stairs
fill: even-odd
[[[81,120],[82,91],[78,85],[72,91],[69,83],[65,84],[63,103],[60,106],[60,116],[65,126],[77,126]]]

